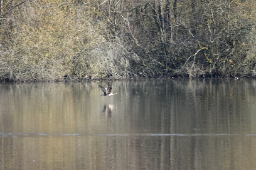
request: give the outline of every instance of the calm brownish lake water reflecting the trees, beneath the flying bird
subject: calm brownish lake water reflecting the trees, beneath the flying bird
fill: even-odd
[[[256,169],[256,81],[0,84],[0,169]]]

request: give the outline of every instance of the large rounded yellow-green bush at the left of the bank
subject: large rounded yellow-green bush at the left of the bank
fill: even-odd
[[[72,74],[72,59],[104,41],[96,20],[99,14],[61,0],[34,0],[19,6],[6,21],[13,26],[5,27],[9,41],[0,54],[1,79],[61,80]]]

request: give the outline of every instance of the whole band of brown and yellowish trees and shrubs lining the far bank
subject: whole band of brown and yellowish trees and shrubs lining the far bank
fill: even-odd
[[[6,0],[0,79],[256,76],[255,0]]]

